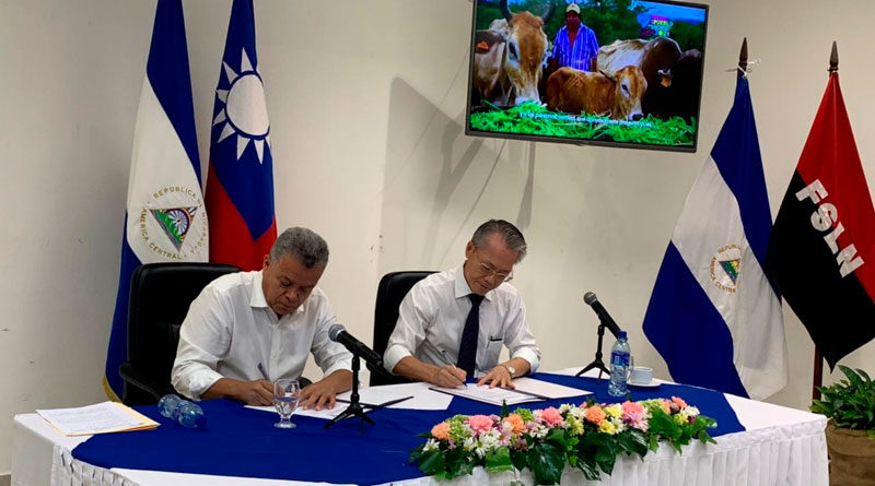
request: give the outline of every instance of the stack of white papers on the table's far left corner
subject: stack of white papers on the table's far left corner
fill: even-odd
[[[40,417],[66,436],[150,430],[158,423],[118,402],[103,402],[74,408],[36,411]]]

